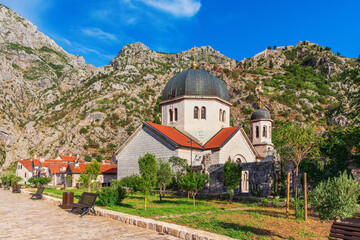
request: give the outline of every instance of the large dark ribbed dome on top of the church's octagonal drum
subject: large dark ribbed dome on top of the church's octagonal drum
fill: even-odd
[[[162,100],[182,96],[219,97],[230,102],[230,95],[224,83],[201,69],[189,69],[172,77],[163,90]]]

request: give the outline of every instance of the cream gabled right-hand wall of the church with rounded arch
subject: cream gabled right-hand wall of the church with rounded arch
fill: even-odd
[[[251,150],[251,146],[246,141],[243,134],[238,131],[219,152],[212,154],[212,159],[217,160],[214,164],[224,164],[228,158],[236,161],[236,158],[245,160],[246,162],[256,162],[256,156]]]

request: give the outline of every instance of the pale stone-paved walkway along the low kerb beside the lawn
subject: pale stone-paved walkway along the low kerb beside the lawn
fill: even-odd
[[[150,239],[168,235],[90,214],[78,214],[44,200],[0,189],[0,239]]]

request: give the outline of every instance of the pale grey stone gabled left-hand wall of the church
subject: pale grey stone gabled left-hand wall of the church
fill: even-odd
[[[118,179],[139,173],[139,157],[146,153],[154,154],[156,158],[164,160],[177,156],[175,147],[143,127],[117,155]]]

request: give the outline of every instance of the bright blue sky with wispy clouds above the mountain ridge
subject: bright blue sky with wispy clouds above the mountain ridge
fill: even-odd
[[[175,53],[210,45],[236,60],[308,40],[360,54],[360,1],[0,0],[72,54],[104,66],[142,42]]]

